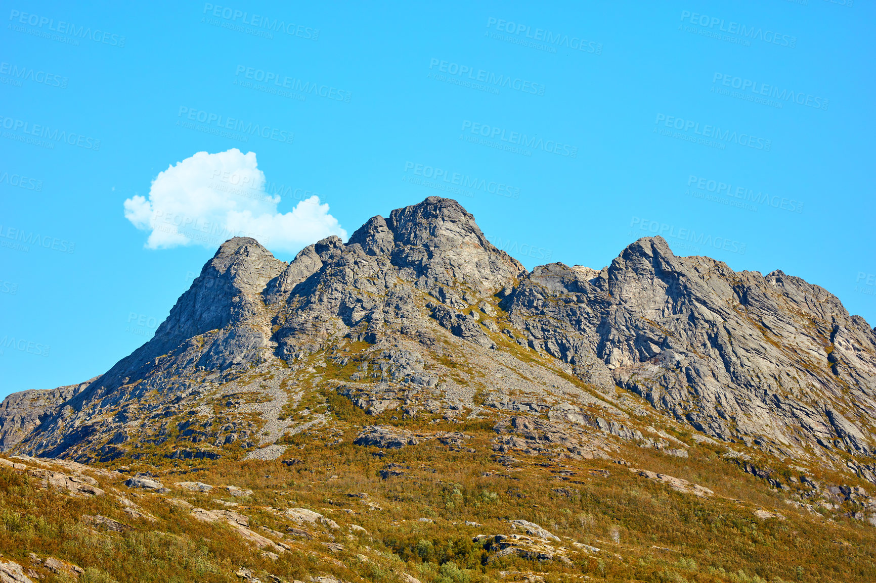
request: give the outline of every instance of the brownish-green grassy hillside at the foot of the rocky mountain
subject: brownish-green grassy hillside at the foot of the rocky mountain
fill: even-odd
[[[119,459],[95,467],[120,473],[90,474],[105,494],[72,495],[42,488],[36,465],[10,458],[27,468],[0,466],[4,560],[47,582],[77,576],[46,568],[50,557],[81,567],[80,581],[876,580],[876,529],[795,509],[783,502],[787,493],[745,474],[719,455],[720,447],[691,447],[687,459],[630,445],[620,447],[616,460],[506,457],[492,451],[497,433],[484,419],[427,427],[395,420],[471,439],[464,447],[427,439],[379,450],[353,444],[363,422],[374,418],[333,393],[314,397],[311,405],[319,404],[332,423],[286,439],[287,463]],[[714,494],[679,492],[631,468],[696,482]],[[395,475],[382,476],[386,469]],[[125,487],[137,472],[154,474],[170,491]],[[175,488],[179,481],[216,488],[193,492]],[[231,495],[218,488],[223,485],[252,494]],[[229,524],[198,520],[188,504],[248,516],[251,530],[288,550],[266,555]],[[286,509],[314,510],[338,528],[296,522]],[[755,510],[781,516],[760,518]],[[131,528],[107,530],[83,516]],[[549,544],[553,558],[501,556],[493,535],[526,536],[509,523],[518,519],[560,538],[530,537],[542,548]]]

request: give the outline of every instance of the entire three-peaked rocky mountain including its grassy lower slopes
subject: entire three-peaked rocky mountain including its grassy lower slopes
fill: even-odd
[[[75,501],[52,528],[173,532],[178,580],[873,580],[874,420],[823,288],[659,236],[527,271],[429,197],[291,263],[224,242],[112,369],[6,397],[0,471]],[[0,573],[100,555],[45,544]]]

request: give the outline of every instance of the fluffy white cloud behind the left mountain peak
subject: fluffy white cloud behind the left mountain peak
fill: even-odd
[[[264,189],[256,152],[199,151],[159,172],[148,199],[135,195],[125,200],[124,217],[150,232],[149,249],[190,244],[212,249],[232,236],[250,236],[269,249],[294,253],[329,235],[347,238],[318,196],[281,214],[279,194]]]

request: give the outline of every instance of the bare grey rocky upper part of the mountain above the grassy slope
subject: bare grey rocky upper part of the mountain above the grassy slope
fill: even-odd
[[[467,360],[468,376],[448,359]],[[580,420],[576,411],[596,406],[629,439],[637,418],[656,414],[876,482],[876,334],[829,292],[781,271],[677,257],[660,237],[602,270],[527,273],[456,201],[437,197],[288,264],[253,239],[223,243],[155,337],[106,374],[7,397],[0,447],[111,459],[147,437],[172,439],[171,421],[197,412],[206,420],[195,442],[218,455],[241,427],[209,425],[208,399],[234,385],[275,391],[279,408],[302,398],[290,387],[314,366],[348,362],[361,364],[339,392],[372,414],[526,406]],[[526,380],[512,382],[506,370],[524,364]],[[488,396],[483,406],[476,394]],[[258,411],[273,439],[292,426]]]

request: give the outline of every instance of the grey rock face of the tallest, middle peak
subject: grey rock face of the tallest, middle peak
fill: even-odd
[[[422,292],[469,306],[477,304],[477,294],[491,295],[523,272],[486,240],[459,203],[429,197],[392,211],[388,220],[373,217],[346,245],[335,237],[302,251],[284,274],[297,283],[273,320],[279,326],[273,339],[281,358],[294,359],[350,328],[369,342],[405,326],[420,330],[424,314],[416,303]],[[276,301],[277,292],[267,299]]]

